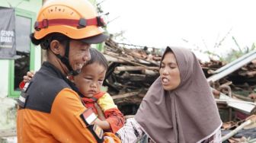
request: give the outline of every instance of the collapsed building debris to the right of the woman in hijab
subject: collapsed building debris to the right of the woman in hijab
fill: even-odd
[[[251,56],[255,57],[255,52]],[[243,59],[238,59],[243,61]],[[219,74],[219,80],[210,82],[222,118],[222,142],[256,142],[256,60],[223,62],[211,60],[201,63],[206,78]],[[226,71],[217,69],[223,67]],[[239,67],[226,76],[224,72]],[[218,77],[218,76],[217,76]],[[213,78],[212,78],[213,79]]]

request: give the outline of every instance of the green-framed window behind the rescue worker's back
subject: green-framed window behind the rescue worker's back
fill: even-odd
[[[33,12],[15,9],[16,51],[18,59],[11,60],[9,77],[9,95],[18,97],[20,94],[19,83],[27,71],[34,70],[34,48],[30,43],[29,35],[32,30]]]

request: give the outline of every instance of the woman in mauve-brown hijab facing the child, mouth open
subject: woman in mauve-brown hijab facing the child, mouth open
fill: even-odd
[[[221,142],[222,121],[194,53],[167,47],[159,72],[136,116],[117,132],[122,142]]]

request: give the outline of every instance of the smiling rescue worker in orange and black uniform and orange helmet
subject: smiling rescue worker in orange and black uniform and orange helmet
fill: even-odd
[[[46,62],[25,84],[18,100],[18,142],[120,142],[94,124],[67,75],[90,59],[92,43],[107,39],[104,23],[86,0],[47,1],[37,15],[32,43],[46,49]]]

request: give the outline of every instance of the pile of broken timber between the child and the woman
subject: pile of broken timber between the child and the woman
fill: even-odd
[[[111,39],[107,40],[104,56],[109,62],[109,68],[104,86],[107,86],[107,91],[119,107],[127,104],[136,108],[139,106],[142,97],[159,76],[161,52],[161,49],[148,47],[128,49]]]

